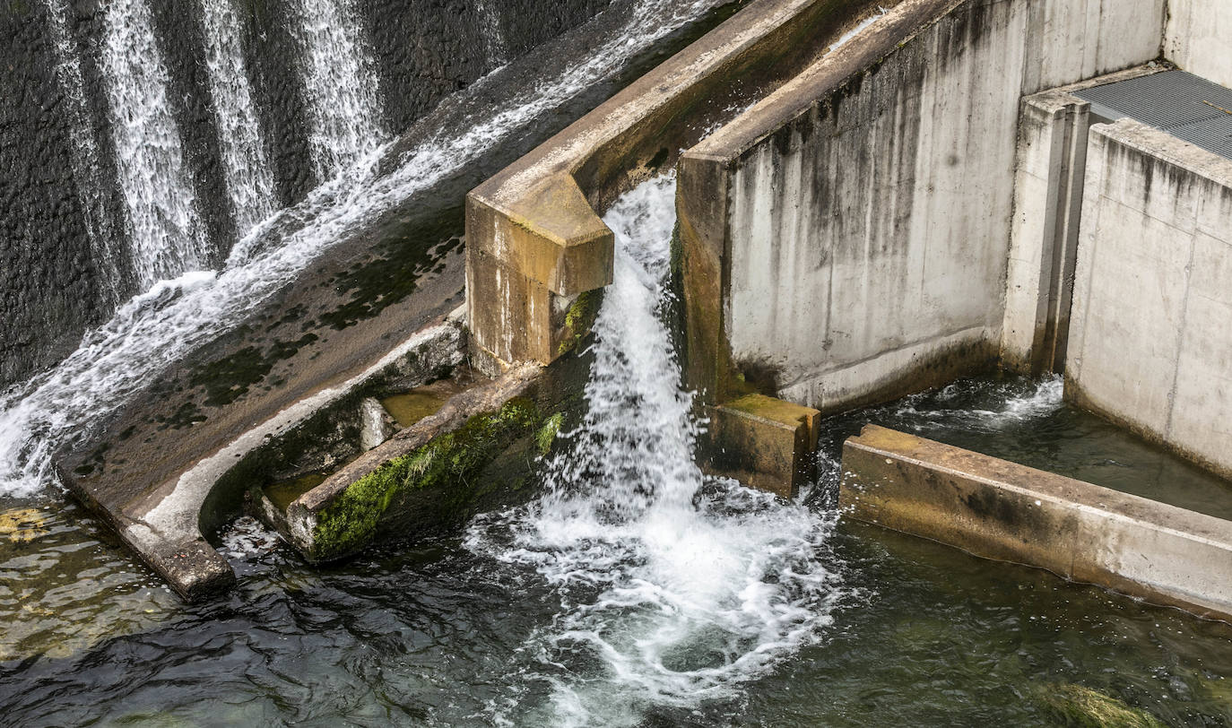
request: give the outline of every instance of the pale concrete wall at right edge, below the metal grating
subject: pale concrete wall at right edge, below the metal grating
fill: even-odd
[[[1232,474],[1232,160],[1090,128],[1066,394]]]

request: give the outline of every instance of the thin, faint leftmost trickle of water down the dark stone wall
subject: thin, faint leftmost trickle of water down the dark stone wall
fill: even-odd
[[[100,288],[110,307],[120,304],[123,288],[121,255],[116,250],[118,237],[106,208],[107,179],[103,176],[99,139],[85,105],[85,78],[81,75],[80,51],[69,31],[65,0],[48,0],[48,34],[55,47],[55,78],[64,94],[73,139],[73,184],[85,216],[86,232],[94,249],[92,260],[99,271]]]

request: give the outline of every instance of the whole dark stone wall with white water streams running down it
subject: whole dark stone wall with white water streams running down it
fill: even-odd
[[[607,0],[0,10],[0,388]]]

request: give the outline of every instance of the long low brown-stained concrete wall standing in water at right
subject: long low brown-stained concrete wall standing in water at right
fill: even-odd
[[[859,521],[1232,618],[1232,521],[876,425],[843,447]]]

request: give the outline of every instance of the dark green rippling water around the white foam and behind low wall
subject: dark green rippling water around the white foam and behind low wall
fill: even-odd
[[[1030,382],[970,382],[832,420],[828,446],[864,420],[1161,498],[1179,488],[1206,503],[1223,488]],[[46,517],[20,516],[0,535],[0,724],[552,722],[549,673],[527,645],[563,593],[526,565],[471,553],[461,536],[315,570],[260,528],[238,528],[225,541],[240,589],[182,606],[78,509],[0,510],[15,508]],[[1047,696],[1082,685],[1172,726],[1232,724],[1228,625],[857,524],[839,524],[825,546],[844,596],[793,659],[731,692],[622,717],[1057,726]],[[577,658],[570,669],[602,670]]]

